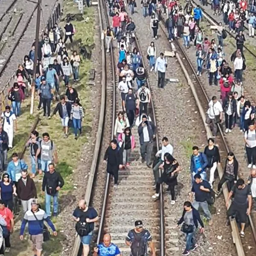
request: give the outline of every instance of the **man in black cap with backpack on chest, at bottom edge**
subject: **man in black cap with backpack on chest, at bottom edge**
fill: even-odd
[[[147,256],[148,245],[151,249],[152,256],[156,256],[156,250],[152,241],[152,236],[148,230],[143,228],[142,221],[135,221],[135,228],[130,230],[125,244],[131,248],[131,256]]]

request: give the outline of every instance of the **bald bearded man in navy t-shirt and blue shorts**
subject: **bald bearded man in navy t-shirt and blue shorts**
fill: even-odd
[[[79,233],[78,227],[79,223],[81,222],[87,222],[89,234],[87,236],[80,236],[81,243],[83,245],[83,255],[88,256],[90,251],[90,241],[92,239],[92,234],[94,230],[94,222],[99,220],[98,213],[96,212],[96,209],[93,207],[88,207],[85,200],[80,200],[78,207],[73,212],[73,220],[76,221],[76,231]]]

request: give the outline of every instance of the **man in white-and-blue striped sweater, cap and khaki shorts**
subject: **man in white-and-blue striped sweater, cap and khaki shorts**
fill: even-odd
[[[23,240],[23,233],[26,227],[26,223],[29,223],[29,235],[33,243],[33,252],[36,256],[42,254],[42,244],[44,242],[43,227],[44,221],[51,227],[54,236],[57,236],[57,231],[47,216],[46,212],[39,208],[38,199],[33,199],[31,202],[31,210],[27,211],[20,227],[20,240]]]

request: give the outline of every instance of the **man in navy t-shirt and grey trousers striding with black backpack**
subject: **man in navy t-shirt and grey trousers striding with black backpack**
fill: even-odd
[[[193,202],[193,207],[198,210],[201,207],[206,215],[209,225],[212,225],[212,215],[209,211],[207,198],[211,192],[211,185],[207,180],[203,180],[200,174],[194,176],[195,181],[192,184],[191,194],[189,201],[192,202],[193,195],[195,195],[195,201]]]

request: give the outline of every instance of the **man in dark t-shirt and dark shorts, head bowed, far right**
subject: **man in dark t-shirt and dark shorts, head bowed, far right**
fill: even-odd
[[[241,232],[240,236],[244,237],[244,227],[247,221],[247,215],[250,215],[252,207],[252,195],[250,187],[244,184],[243,179],[237,180],[237,183],[231,189],[226,206],[228,208],[229,200],[234,193],[234,200],[230,205],[230,208],[227,211],[228,217],[235,218],[238,214],[239,220],[241,222]],[[248,208],[247,208],[248,207]]]

